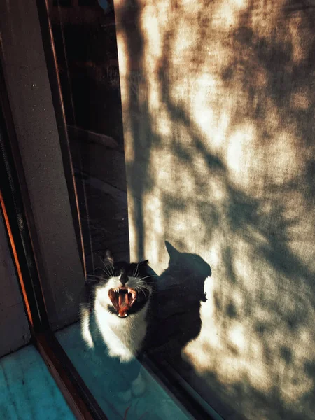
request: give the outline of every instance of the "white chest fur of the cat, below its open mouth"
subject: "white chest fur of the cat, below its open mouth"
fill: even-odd
[[[132,360],[139,350],[146,335],[146,311],[148,305],[127,318],[111,314],[96,300],[94,314],[97,328],[104,339],[109,356],[120,358],[121,362]]]

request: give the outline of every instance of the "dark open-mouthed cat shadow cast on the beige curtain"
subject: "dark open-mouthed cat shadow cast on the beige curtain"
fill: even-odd
[[[200,334],[200,304],[207,301],[204,281],[211,276],[211,267],[200,255],[181,253],[167,241],[165,245],[169,267],[156,282],[146,353],[159,364],[182,370],[189,366],[181,350]]]

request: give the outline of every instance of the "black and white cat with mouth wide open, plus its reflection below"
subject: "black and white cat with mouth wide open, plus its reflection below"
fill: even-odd
[[[123,372],[118,391],[127,392],[124,399],[144,391],[140,363],[148,330],[151,295],[155,273],[148,260],[138,263],[113,262],[106,252],[104,267],[96,269],[87,281],[87,299],[81,306],[81,332],[87,347],[104,351],[111,365]],[[119,379],[120,374],[116,375]]]

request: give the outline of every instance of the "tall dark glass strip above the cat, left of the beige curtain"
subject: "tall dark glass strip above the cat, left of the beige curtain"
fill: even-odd
[[[111,248],[129,258],[123,122],[113,9],[52,6],[87,272]]]

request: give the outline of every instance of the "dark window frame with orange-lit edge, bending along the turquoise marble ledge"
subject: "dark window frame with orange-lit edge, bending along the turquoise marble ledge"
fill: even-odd
[[[0,111],[0,207],[25,304],[31,342],[41,354],[76,418],[105,420],[106,415],[50,328],[34,257],[34,240],[30,233],[30,230],[34,233],[36,227],[31,221],[31,214],[27,214],[29,197],[26,192],[22,193],[22,188],[26,186],[22,180],[22,162],[16,148],[17,139],[1,65]],[[19,174],[16,162],[19,162]]]

